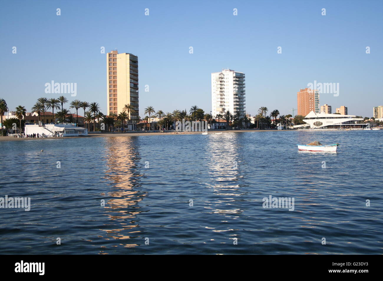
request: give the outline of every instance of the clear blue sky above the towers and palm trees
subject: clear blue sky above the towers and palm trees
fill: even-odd
[[[246,111],[291,114],[314,80],[339,83],[320,104],[372,116],[383,105],[383,1],[3,1],[0,87],[8,107],[30,111],[44,84],[77,83],[69,101],[106,113],[106,52],[139,57],[139,114],[197,105],[211,110],[210,73],[246,74]],[[56,9],[61,9],[61,16]],[[149,16],[144,9],[149,8]],[[237,8],[238,15],[233,15]],[[326,16],[321,9],[326,8]],[[12,54],[12,47],[17,53]],[[189,47],[193,54],[189,54]],[[282,54],[277,54],[277,47]],[[366,46],[371,53],[366,54]],[[149,85],[149,92],[144,86]],[[67,104],[67,107],[69,105]],[[79,112],[80,113],[80,112]],[[82,112],[81,112],[82,114]]]

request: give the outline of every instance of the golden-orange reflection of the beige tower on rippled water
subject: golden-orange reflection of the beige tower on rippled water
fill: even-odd
[[[105,179],[110,182],[110,192],[101,194],[110,199],[105,200],[106,216],[110,223],[105,224],[106,240],[115,239],[112,247],[136,247],[139,244],[129,243],[126,239],[140,237],[141,230],[137,215],[141,213],[139,202],[147,195],[140,190],[140,178],[137,163],[140,160],[137,137],[105,138],[106,166]],[[137,241],[137,240],[136,240]]]

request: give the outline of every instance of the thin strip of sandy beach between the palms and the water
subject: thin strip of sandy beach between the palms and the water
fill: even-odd
[[[225,130],[225,131],[208,131],[208,135],[215,133],[245,133],[245,132],[283,132],[294,130]],[[64,136],[62,138],[14,138],[13,136],[0,136],[0,141],[26,141],[26,140],[64,140],[68,138],[99,138],[99,137],[124,137],[124,136],[177,136],[177,135],[195,135],[205,132],[140,132],[140,133],[88,133],[88,136]]]

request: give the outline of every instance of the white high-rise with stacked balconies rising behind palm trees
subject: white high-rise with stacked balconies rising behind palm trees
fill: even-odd
[[[211,73],[211,107],[213,117],[228,110],[232,115],[239,111],[244,117],[245,74],[230,69]]]

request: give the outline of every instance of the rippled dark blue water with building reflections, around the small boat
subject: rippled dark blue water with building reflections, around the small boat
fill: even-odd
[[[0,209],[0,253],[382,254],[382,136],[3,141],[0,197],[30,197],[32,206]],[[298,152],[296,144],[314,140],[341,146],[337,153]],[[295,210],[263,208],[269,195],[294,197]]]

